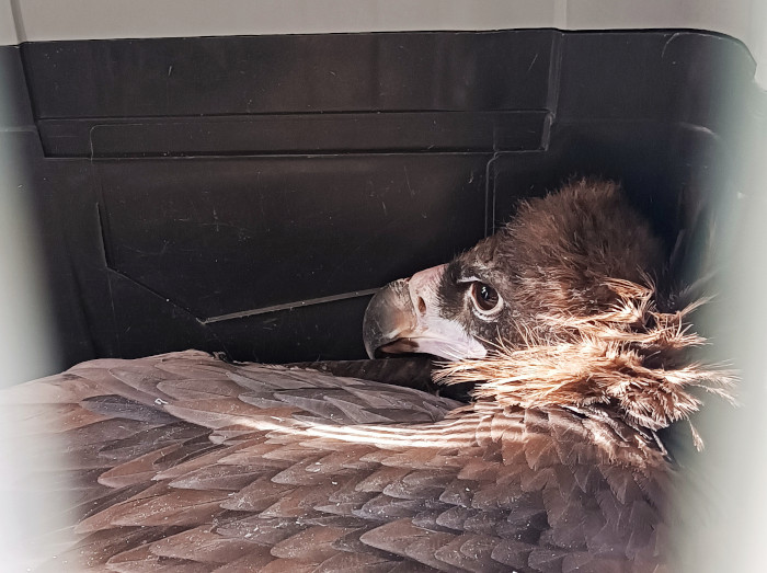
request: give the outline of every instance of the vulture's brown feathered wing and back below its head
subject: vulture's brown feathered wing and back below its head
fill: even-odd
[[[59,440],[34,452],[36,470],[56,472],[77,525],[43,570],[603,573],[661,562],[669,470],[618,419],[460,406],[199,352],[93,360],[4,398],[22,433]]]

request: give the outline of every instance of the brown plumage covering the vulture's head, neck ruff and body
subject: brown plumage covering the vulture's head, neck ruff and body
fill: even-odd
[[[411,288],[411,310],[457,336],[449,353],[469,341],[438,377],[477,382],[471,404],[194,351],[12,389],[5,415],[64,444],[66,467],[44,446],[37,470],[57,472],[77,525],[44,566],[664,570],[674,470],[654,431],[732,376],[690,362],[689,308],[659,310],[660,252],[615,185],[577,182]],[[419,343],[385,314],[367,321],[381,347]]]

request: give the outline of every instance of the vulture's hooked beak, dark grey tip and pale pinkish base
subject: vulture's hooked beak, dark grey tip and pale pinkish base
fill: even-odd
[[[457,321],[439,313],[438,288],[447,265],[389,283],[365,311],[363,340],[370,358],[420,352],[449,360],[482,358],[486,349]]]

